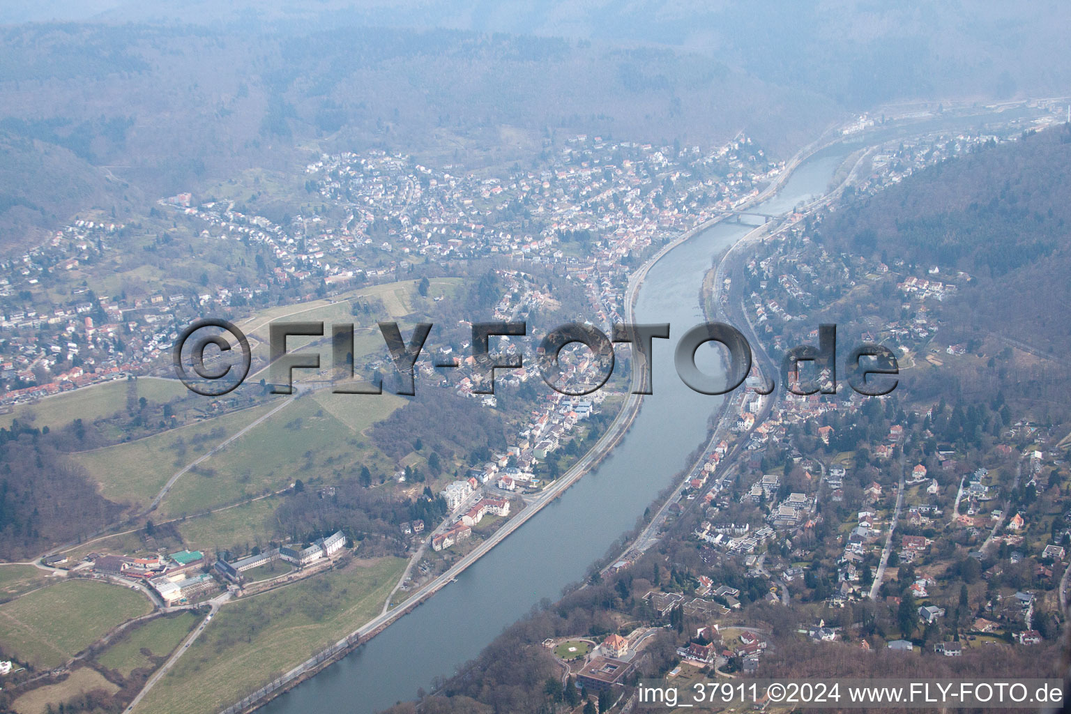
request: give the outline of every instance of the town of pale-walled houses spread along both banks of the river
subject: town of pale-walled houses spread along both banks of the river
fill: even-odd
[[[856,168],[865,170],[854,170],[844,184],[850,183],[857,198],[876,196],[949,156],[1010,137],[1010,132],[936,134],[871,148],[855,159]],[[127,392],[137,392],[146,378],[166,375],[170,343],[184,321],[206,309],[262,325],[272,308],[297,300],[315,303],[308,309],[341,307],[343,315],[375,319],[387,306],[369,302],[369,295],[396,294],[363,291],[406,284],[424,299],[423,316],[456,322],[444,321],[449,328],[417,362],[421,380],[439,390],[436,396],[457,400],[444,408],[465,409],[469,419],[489,414],[502,425],[495,442],[452,444],[449,452],[438,444],[428,450],[422,438],[410,437],[411,451],[383,451],[386,458],[368,459],[374,469],[358,465],[344,471],[331,466],[335,456],[319,466],[310,450],[301,477],[288,471],[285,485],[201,501],[199,511],[167,508],[176,482],[193,476],[203,489],[213,478],[210,469],[194,461],[153,490],[155,497],[142,502],[150,507],[131,504],[126,511],[134,518],[155,519],[153,511],[163,503],[167,518],[160,525],[146,521],[134,529],[136,540],[122,540],[129,531],[115,527],[111,533],[87,533],[46,553],[40,565],[65,573],[72,582],[101,580],[139,591],[157,618],[188,612],[210,619],[257,602],[254,595],[282,599],[295,588],[312,593],[329,588],[331,578],[351,583],[345,578],[355,577],[361,561],[393,563],[395,569],[377,581],[387,589],[379,592],[382,609],[376,618],[347,622],[334,633],[345,635],[342,640],[325,640],[311,659],[281,670],[259,695],[236,697],[238,708],[360,647],[393,618],[454,582],[458,568],[494,545],[499,531],[511,532],[514,519],[527,519],[590,468],[593,444],[614,432],[619,413],[630,414],[629,406],[635,406],[629,394],[635,384],[621,370],[594,393],[537,391],[539,369],[525,365],[495,375],[496,391],[489,394],[466,355],[472,347],[467,338],[471,322],[458,318],[458,293],[443,289],[449,284],[436,287],[436,280],[479,265],[469,277],[482,277],[470,282],[495,284],[489,317],[588,316],[589,324],[608,331],[628,321],[635,269],[708,224],[739,221],[740,210],[786,168],[783,162],[766,162],[763,150],[743,136],[706,153],[586,136],[564,143],[546,169],[500,179],[478,178],[455,166],[431,169],[382,151],[322,155],[306,166],[304,191],[332,208],[325,204],[284,223],[238,210],[233,200],[197,202],[192,194],[181,194],[157,202],[157,214],[181,225],[186,240],[237,244],[226,249],[255,255],[251,262],[263,275],[256,287],[236,283],[134,299],[96,298],[87,289],[78,293],[86,295],[79,302],[52,307],[52,316],[44,318],[27,306],[39,289],[31,286],[70,286],[72,277],[91,277],[94,263],[121,260],[108,257],[109,237],[130,226],[75,222],[47,249],[27,254],[26,279],[15,280],[5,295],[13,305],[21,301],[22,310],[0,324],[6,333],[0,349],[11,360],[4,365],[9,409],[33,409],[65,398],[51,396],[58,392],[77,394],[78,388],[101,381],[121,380]],[[992,367],[995,360],[1016,355],[1016,348],[994,350],[992,343],[941,341],[947,318],[940,306],[972,284],[970,274],[830,249],[821,231],[836,217],[834,198],[841,197],[831,194],[754,226],[746,258],[726,258],[724,268],[709,271],[700,294],[706,319],[736,321],[754,343],[753,353],[767,359],[756,358],[744,389],[711,420],[706,445],[678,474],[677,485],[648,508],[623,550],[598,563],[575,591],[612,587],[616,594],[605,617],[587,629],[543,641],[560,669],[562,687],[555,697],[575,698],[579,705],[590,694],[604,707],[620,703],[640,672],[652,667],[682,682],[779,671],[790,652],[786,637],[815,645],[952,657],[980,648],[1040,649],[1058,636],[1071,547],[1071,515],[1054,513],[1062,508],[1064,431],[1013,417],[1001,400],[968,412],[944,398],[869,397],[843,385],[838,390],[830,374],[812,376],[830,393],[760,389],[786,346],[816,343],[815,328],[825,322],[844,325],[849,338],[886,345],[908,371],[940,368],[950,360],[971,368],[987,360]],[[100,240],[88,240],[97,233]],[[67,248],[78,256],[74,262]],[[157,249],[168,249],[167,244]],[[61,258],[66,261],[62,273],[55,270]],[[834,284],[844,287],[827,287]],[[842,318],[836,310],[860,287],[868,298],[876,297],[874,316]],[[34,336],[46,324],[57,333],[55,340]],[[360,330],[372,328],[362,323],[355,339],[364,338]],[[518,356],[525,344],[545,332],[540,324],[525,340],[511,338],[493,353]],[[258,335],[255,339],[263,343]],[[384,365],[391,358],[382,340],[365,340],[361,350],[350,355],[355,371],[387,381]],[[628,355],[631,363],[632,351]],[[439,361],[455,358],[457,368],[441,370]],[[262,350],[255,352],[254,374],[266,365]],[[563,383],[576,392],[601,383],[599,361],[583,349],[563,350],[560,365]],[[314,373],[312,385],[292,404],[308,404],[336,384],[318,368]],[[127,397],[127,413],[160,409],[161,428],[154,416],[140,420],[138,427],[146,431],[138,438],[167,434],[256,410],[256,386],[248,386],[253,392],[215,402],[211,414],[191,415],[181,400],[188,397],[161,405]],[[267,394],[268,384],[260,386]],[[266,407],[278,410],[278,405]],[[300,431],[301,419],[341,413],[326,401],[288,409],[305,414],[286,424],[292,431]],[[404,424],[390,435],[404,434]],[[92,428],[106,426],[104,420]],[[12,429],[32,430],[33,423],[16,420]],[[222,441],[216,449],[235,435],[242,431],[216,434],[213,438]],[[112,445],[120,444],[100,447]],[[177,466],[184,452],[179,454]],[[241,478],[252,476],[238,483]],[[335,504],[342,498],[365,499],[365,491],[374,493],[375,503],[351,508],[359,516],[338,515]],[[214,543],[211,552],[191,537],[196,527],[190,523],[260,502],[271,504],[274,522],[271,530],[246,530],[252,535],[245,535],[244,545]],[[387,502],[397,504],[389,514],[382,513]],[[82,544],[84,537],[89,543]],[[100,540],[106,545],[92,545]],[[183,651],[206,623],[182,640],[168,667],[188,656]],[[674,642],[668,650],[663,647],[667,638]],[[75,655],[60,664],[77,668],[74,663],[85,655]],[[12,667],[22,666],[21,678],[44,677],[41,662],[15,659]]]

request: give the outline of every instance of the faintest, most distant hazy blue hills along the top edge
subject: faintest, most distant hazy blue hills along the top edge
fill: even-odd
[[[133,0],[90,3],[12,1],[0,21],[57,18],[174,24],[174,9]],[[926,0],[873,3],[673,3],[637,0],[267,0],[183,3],[183,21],[270,31],[420,27],[563,36],[699,51],[763,81],[869,108],[905,98],[1009,97],[1064,92],[1071,80],[1066,3],[1029,13],[996,0],[969,5]]]

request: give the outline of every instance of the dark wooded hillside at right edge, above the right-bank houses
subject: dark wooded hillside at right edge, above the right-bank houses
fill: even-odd
[[[821,229],[831,248],[971,276],[941,307],[959,331],[1039,350],[1071,348],[1071,128],[944,162],[848,201]]]

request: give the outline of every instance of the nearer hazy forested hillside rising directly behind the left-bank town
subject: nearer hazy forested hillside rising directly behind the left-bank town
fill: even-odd
[[[530,157],[557,132],[711,146],[746,127],[790,153],[842,116],[699,54],[322,27],[0,27],[0,250],[74,211],[124,219],[138,195],[144,213],[245,168],[304,165],[312,141],[472,169]]]

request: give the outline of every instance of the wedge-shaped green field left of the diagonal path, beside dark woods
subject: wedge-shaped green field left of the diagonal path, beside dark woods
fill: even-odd
[[[101,493],[118,503],[148,505],[167,480],[235,432],[271,411],[275,404],[216,416],[124,444],[75,455],[101,485]]]

